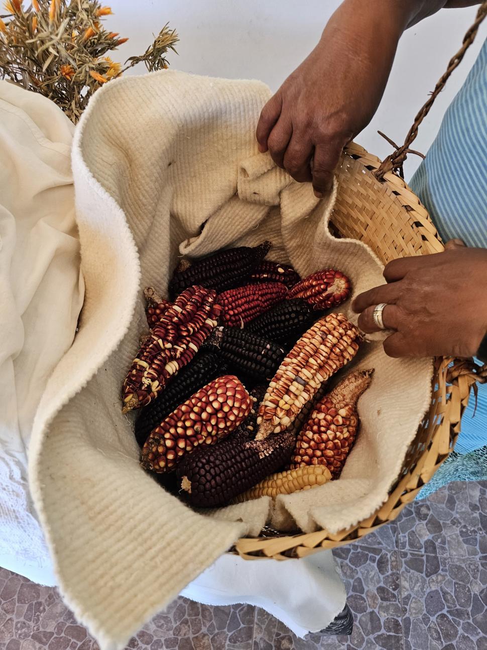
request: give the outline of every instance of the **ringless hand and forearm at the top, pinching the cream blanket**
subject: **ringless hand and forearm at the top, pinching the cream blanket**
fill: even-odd
[[[411,4],[345,0],[319,44],[262,109],[259,150],[296,181],[312,181],[320,198],[332,186],[343,147],[377,110]]]

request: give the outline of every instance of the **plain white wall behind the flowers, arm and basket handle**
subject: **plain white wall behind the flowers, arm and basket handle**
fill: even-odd
[[[111,0],[107,4],[115,14],[109,17],[110,28],[130,37],[119,51],[120,59],[144,52],[153,32],[169,22],[181,38],[179,57],[169,57],[171,67],[218,77],[262,79],[277,90],[318,42],[340,0]],[[417,110],[460,47],[476,10],[443,10],[406,32],[381,106],[357,142],[380,157],[390,153],[390,146],[377,129],[403,142]],[[431,144],[486,33],[487,25],[483,25],[421,125],[414,145],[419,151],[425,153]],[[410,157],[406,177],[418,164],[418,157]]]

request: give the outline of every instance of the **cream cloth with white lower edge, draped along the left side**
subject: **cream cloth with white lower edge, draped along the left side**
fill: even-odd
[[[0,82],[0,564],[44,584],[51,561],[27,489],[27,448],[84,295],[72,138],[51,101]]]

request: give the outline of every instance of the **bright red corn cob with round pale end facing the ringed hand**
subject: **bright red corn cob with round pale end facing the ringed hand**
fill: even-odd
[[[350,280],[341,271],[325,268],[292,287],[288,298],[304,298],[315,309],[337,307],[350,295]]]

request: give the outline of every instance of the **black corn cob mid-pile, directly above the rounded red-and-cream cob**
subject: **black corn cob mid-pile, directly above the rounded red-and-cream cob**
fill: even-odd
[[[256,382],[268,382],[286,351],[276,343],[238,328],[216,328],[208,346],[217,348],[229,369]]]

